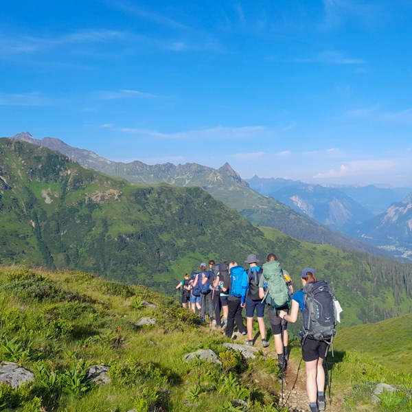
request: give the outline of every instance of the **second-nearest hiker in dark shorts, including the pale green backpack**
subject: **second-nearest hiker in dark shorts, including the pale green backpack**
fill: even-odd
[[[266,263],[262,267],[259,296],[267,305],[279,369],[285,371],[288,364],[288,324],[282,322],[279,313],[281,310],[289,310],[290,288],[286,284],[282,267],[275,253],[266,256]]]

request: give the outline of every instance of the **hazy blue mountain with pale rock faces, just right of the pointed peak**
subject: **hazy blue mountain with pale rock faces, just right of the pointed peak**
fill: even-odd
[[[258,176],[249,179],[248,183],[258,192],[343,232],[374,216],[352,197],[333,187],[286,179],[260,179]]]

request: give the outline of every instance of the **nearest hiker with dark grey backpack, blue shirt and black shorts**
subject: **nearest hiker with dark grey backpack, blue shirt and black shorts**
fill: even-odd
[[[292,297],[290,314],[282,311],[285,321],[297,321],[299,310],[304,325],[301,328],[302,357],[306,365],[306,391],[311,412],[325,410],[325,370],[323,360],[336,334],[335,301],[328,282],[317,280],[313,268],[301,272],[303,289]]]

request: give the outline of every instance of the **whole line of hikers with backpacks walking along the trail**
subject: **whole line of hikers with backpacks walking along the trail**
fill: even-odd
[[[182,291],[182,305],[194,313],[199,312],[205,321],[208,305],[209,321],[216,322],[229,339],[236,339],[238,332],[247,335],[246,344],[254,345],[253,316],[256,312],[262,347],[268,347],[264,312],[268,314],[275,341],[279,369],[283,374],[288,364],[288,322],[297,321],[299,311],[303,315],[301,329],[302,356],[306,363],[306,390],[310,411],[325,410],[325,371],[323,361],[336,333],[336,300],[327,282],[317,281],[313,268],[301,272],[302,289],[294,293],[288,272],[282,269],[275,253],[266,256],[262,267],[254,253],[244,261],[244,268],[237,262],[216,264],[202,262],[200,271],[185,273],[176,289]],[[339,302],[337,302],[339,305]],[[242,310],[246,308],[247,325],[244,326]],[[340,308],[339,308],[340,309]],[[323,319],[325,318],[325,319]]]

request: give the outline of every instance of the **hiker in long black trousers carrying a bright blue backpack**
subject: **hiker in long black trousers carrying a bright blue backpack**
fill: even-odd
[[[222,285],[222,291],[229,293],[225,334],[229,339],[236,339],[236,335],[232,338],[235,320],[238,331],[243,335],[247,334],[242,319],[242,309],[245,306],[244,300],[247,292],[247,275],[244,268],[234,261],[230,262],[229,271],[230,276],[225,279]]]

